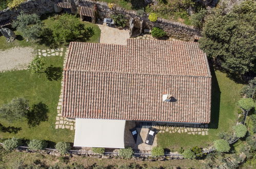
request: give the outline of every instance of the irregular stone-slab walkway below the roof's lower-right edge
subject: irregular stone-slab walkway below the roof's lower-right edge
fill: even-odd
[[[175,127],[175,126],[154,126],[155,129],[160,130],[159,133],[187,133],[192,135],[208,135],[206,128],[186,128],[186,127]]]

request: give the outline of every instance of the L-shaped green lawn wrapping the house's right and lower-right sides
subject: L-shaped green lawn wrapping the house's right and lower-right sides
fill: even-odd
[[[215,71],[212,74],[212,106],[209,135],[189,135],[186,133],[159,133],[157,144],[177,150],[179,147],[191,148],[193,146],[205,147],[218,139],[218,133],[231,130],[236,123],[237,101],[241,98],[239,92],[243,85],[235,83],[226,77],[226,74]]]

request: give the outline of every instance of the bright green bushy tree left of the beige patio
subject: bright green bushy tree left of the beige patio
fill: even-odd
[[[86,28],[79,18],[67,13],[57,17],[51,30],[57,44],[68,44],[82,37],[89,39],[94,35],[93,28]]]

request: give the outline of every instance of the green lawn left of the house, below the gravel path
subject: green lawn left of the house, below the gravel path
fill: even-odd
[[[63,67],[63,57],[45,57],[47,66]],[[58,97],[61,92],[61,79],[48,80],[45,73],[40,77],[31,74],[28,70],[9,71],[0,73],[0,105],[9,102],[14,97],[24,97],[29,100],[30,107],[33,104],[45,103],[48,106],[48,120],[40,125],[30,127],[27,119],[9,123],[0,119],[0,123],[5,127],[11,126],[21,128],[15,133],[0,132],[0,138],[25,138],[25,139],[45,139],[53,142],[68,141],[73,142],[74,131],[67,129],[55,130],[55,118],[57,115]]]

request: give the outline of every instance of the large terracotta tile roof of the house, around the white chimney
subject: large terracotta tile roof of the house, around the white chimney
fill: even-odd
[[[63,73],[64,117],[210,122],[211,76],[197,43],[70,43]]]

